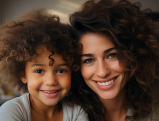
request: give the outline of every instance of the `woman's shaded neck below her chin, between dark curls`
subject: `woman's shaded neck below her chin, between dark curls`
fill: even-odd
[[[127,114],[127,97],[126,97],[126,88],[123,88],[120,93],[113,99],[102,99],[100,98],[105,110],[106,110],[106,117],[108,121],[115,121],[120,119],[123,121]]]

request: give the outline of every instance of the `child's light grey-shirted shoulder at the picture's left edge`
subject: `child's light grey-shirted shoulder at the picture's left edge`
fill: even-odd
[[[31,120],[29,94],[24,94],[5,102],[0,107],[0,121]]]

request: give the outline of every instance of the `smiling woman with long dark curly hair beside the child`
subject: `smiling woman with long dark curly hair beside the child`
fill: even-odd
[[[76,102],[90,121],[158,119],[159,43],[140,4],[88,1],[70,23],[83,46]]]

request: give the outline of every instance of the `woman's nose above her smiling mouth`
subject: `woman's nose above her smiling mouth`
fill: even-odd
[[[98,77],[105,78],[110,74],[110,72],[111,72],[111,69],[106,64],[106,62],[104,62],[104,61],[98,62],[98,65],[97,65],[97,76]]]

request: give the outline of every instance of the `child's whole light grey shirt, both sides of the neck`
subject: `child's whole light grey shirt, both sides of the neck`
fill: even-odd
[[[62,101],[63,121],[89,121],[78,105],[69,106]],[[29,93],[5,102],[0,107],[0,121],[31,121]]]

